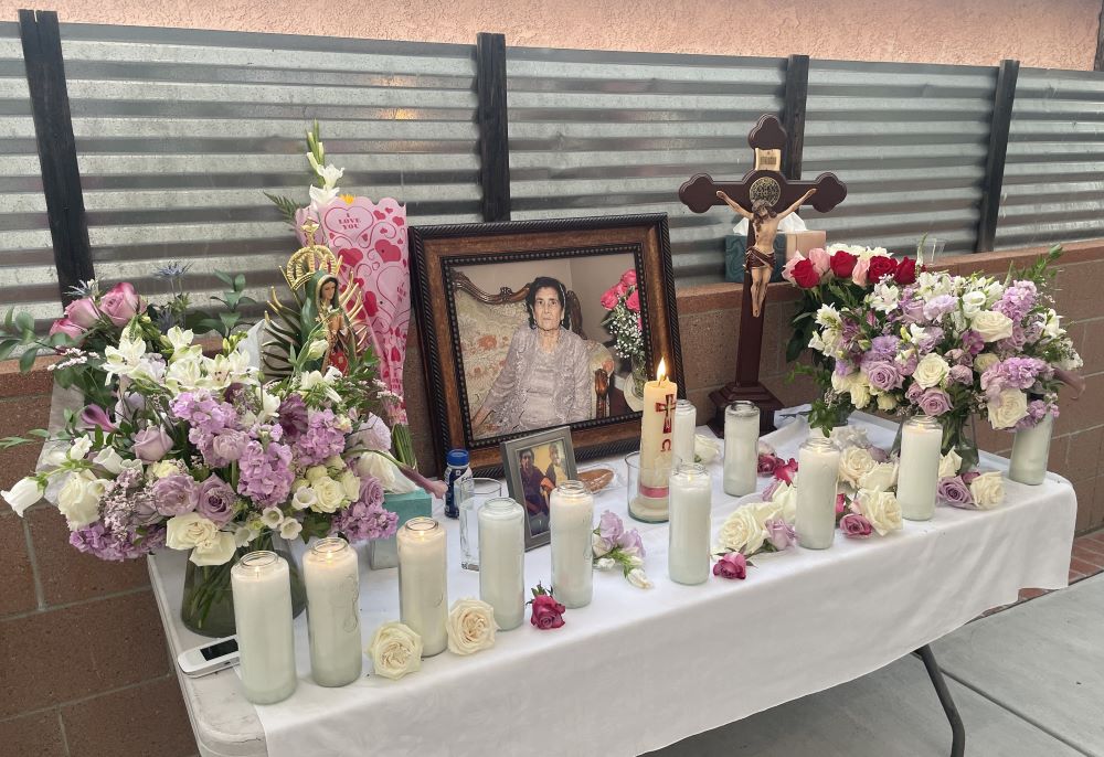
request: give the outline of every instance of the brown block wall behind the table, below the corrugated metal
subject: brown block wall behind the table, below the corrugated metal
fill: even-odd
[[[957,273],[1004,273],[1042,249],[948,262]],[[1068,247],[1057,279],[1059,311],[1085,360],[1086,396],[1065,398],[1050,469],[1073,481],[1078,530],[1104,524],[1104,241]],[[787,404],[807,383],[785,381],[784,346],[794,291],[771,288],[762,374]],[[686,383],[704,420],[708,394],[735,372],[740,294],[733,285],[679,292]],[[411,424],[422,459],[432,456],[426,387],[416,337],[407,354]],[[0,364],[0,437],[45,424],[50,374],[19,375]],[[986,449],[1007,454],[1011,436],[985,431]],[[38,449],[0,452],[0,487],[30,471]],[[0,511],[0,744],[4,754],[145,757],[195,751],[144,562],[103,563],[66,543],[63,519],[38,505],[25,519]]]

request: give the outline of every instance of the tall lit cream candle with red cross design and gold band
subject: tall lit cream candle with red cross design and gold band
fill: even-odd
[[[658,523],[668,518],[668,479],[678,397],[679,385],[667,378],[665,362],[660,360],[656,380],[644,385],[640,476],[636,497],[629,502],[629,514],[640,521]]]

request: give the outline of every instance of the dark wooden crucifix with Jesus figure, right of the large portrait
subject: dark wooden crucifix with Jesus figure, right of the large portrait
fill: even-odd
[[[782,150],[786,145],[786,131],[777,117],[762,116],[747,135],[747,143],[755,151],[755,166],[744,174],[743,179],[735,182],[716,182],[708,173],[699,173],[682,184],[679,189],[679,200],[694,213],[704,213],[714,205],[726,204],[728,200],[730,201],[728,204],[739,205],[745,211],[741,215],[750,217],[756,206],[769,209],[768,215],[782,214],[790,209],[797,210],[800,205],[811,205],[818,212],[827,213],[847,196],[847,186],[834,173],[821,173],[815,181],[789,181],[783,175]],[[809,194],[809,190],[815,192]],[[745,254],[752,259],[754,255],[760,255],[754,249],[756,226],[763,228],[764,235],[769,228],[772,237],[769,243],[773,244],[777,222],[771,218],[773,223],[761,225],[754,218],[750,221]],[[767,239],[764,238],[764,242]],[[761,257],[757,262],[764,263],[765,259]],[[766,276],[769,276],[769,271]],[[758,406],[761,433],[774,429],[774,412],[782,408],[782,403],[760,382],[758,377],[765,313],[758,303],[753,307],[755,299],[753,295],[758,295],[761,288],[765,295],[765,281],[762,287],[755,286],[753,290],[752,271],[745,270],[736,344],[736,376],[726,386],[710,394],[715,413],[709,426],[718,436],[724,433],[724,408],[737,399],[747,399]]]

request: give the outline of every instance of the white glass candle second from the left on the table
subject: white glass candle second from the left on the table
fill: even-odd
[[[310,676],[320,686],[343,686],[360,678],[360,572],[343,539],[316,542],[302,558],[307,587]]]

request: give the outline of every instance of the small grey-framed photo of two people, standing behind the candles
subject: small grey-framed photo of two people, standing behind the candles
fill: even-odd
[[[526,548],[548,544],[549,498],[553,489],[576,476],[571,427],[509,439],[500,448],[510,497],[526,509]]]

